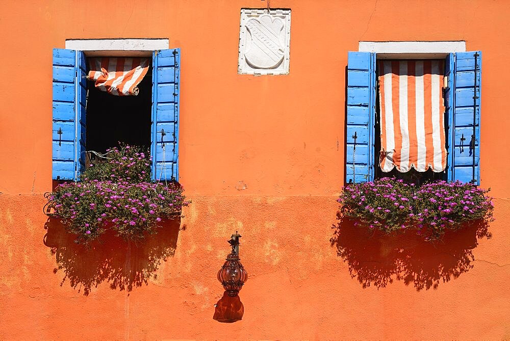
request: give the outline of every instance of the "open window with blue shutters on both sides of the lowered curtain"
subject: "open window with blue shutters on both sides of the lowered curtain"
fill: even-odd
[[[437,57],[437,56],[435,56]],[[445,170],[431,174],[396,174],[413,182],[460,180],[479,185],[479,126],[481,53],[448,53],[444,62]],[[380,103],[377,59],[373,52],[349,52],[347,66],[346,183],[381,176]],[[443,71],[443,68],[441,69]],[[443,121],[438,121],[443,123]],[[377,131],[377,129],[379,129]],[[424,147],[424,146],[421,146]],[[396,171],[392,171],[396,172]],[[386,173],[388,174],[388,173]],[[391,174],[391,173],[390,173]]]

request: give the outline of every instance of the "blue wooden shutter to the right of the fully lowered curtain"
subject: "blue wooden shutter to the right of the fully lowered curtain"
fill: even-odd
[[[455,54],[448,180],[480,185],[481,51]]]

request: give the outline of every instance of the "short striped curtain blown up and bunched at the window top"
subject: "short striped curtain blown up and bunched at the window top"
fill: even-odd
[[[136,96],[149,68],[148,58],[89,58],[88,79],[95,87],[115,96]]]

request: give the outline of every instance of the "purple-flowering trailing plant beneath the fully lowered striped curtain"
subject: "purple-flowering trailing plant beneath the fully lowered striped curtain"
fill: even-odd
[[[489,190],[471,183],[437,181],[418,187],[395,178],[349,184],[340,198],[339,217],[385,233],[414,230],[426,240],[441,239],[446,230],[465,223],[493,221]]]

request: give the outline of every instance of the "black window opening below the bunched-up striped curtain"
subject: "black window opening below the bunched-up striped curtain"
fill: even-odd
[[[152,111],[151,66],[138,85],[137,96],[114,96],[87,82],[87,151],[98,153],[119,143],[150,147]]]

